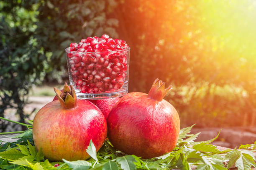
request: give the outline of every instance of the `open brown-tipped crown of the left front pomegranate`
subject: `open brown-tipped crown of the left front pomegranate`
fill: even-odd
[[[62,92],[54,87],[56,96],[61,106],[65,109],[71,109],[77,106],[77,95],[74,91],[73,85],[71,85],[70,87],[71,88],[69,88],[69,86],[67,85],[67,82],[65,82]]]

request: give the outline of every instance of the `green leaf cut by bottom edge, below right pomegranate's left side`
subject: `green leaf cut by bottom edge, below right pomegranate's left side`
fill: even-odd
[[[135,170],[136,166],[133,162],[136,160],[131,155],[116,158],[116,161],[121,165],[123,170]]]

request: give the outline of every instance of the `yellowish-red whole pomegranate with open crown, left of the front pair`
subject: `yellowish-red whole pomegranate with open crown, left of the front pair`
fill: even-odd
[[[85,160],[90,140],[96,150],[107,136],[102,112],[88,100],[77,100],[74,87],[65,83],[63,92],[54,87],[58,100],[42,107],[33,122],[33,140],[37,150],[52,161]]]

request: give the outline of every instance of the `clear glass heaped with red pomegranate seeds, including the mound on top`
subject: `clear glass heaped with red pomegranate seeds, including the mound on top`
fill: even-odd
[[[128,92],[130,47],[108,35],[88,37],[66,48],[69,81],[77,97],[102,99]]]

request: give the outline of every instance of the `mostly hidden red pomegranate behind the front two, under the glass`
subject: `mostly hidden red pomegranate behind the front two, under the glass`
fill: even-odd
[[[61,90],[62,92],[62,90]],[[54,100],[57,100],[57,95],[54,97]],[[108,115],[111,111],[111,109],[114,107],[115,103],[117,103],[119,100],[119,97],[114,97],[114,98],[110,98],[110,99],[95,99],[95,100],[89,100],[90,102],[92,102],[93,104],[95,104],[100,111],[102,111],[103,115],[106,117],[106,119],[108,118]]]

